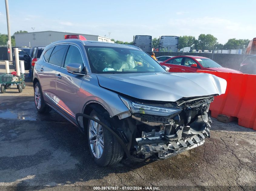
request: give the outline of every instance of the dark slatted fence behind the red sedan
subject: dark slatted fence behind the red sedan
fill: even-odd
[[[152,52],[147,52],[151,55]],[[203,56],[214,60],[225,68],[239,70],[241,62],[252,56],[248,54],[218,54],[218,53],[177,53],[177,52],[154,52],[155,57],[158,56]]]

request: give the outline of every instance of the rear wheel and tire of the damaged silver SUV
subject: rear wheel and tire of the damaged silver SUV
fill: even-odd
[[[49,113],[52,110],[52,108],[49,107],[44,101],[44,97],[39,82],[37,82],[34,86],[34,100],[35,108],[38,111],[38,113]]]

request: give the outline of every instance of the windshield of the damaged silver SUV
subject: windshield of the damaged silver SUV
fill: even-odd
[[[151,56],[141,50],[85,46],[92,73],[166,72]]]

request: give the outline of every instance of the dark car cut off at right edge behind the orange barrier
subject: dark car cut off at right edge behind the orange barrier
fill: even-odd
[[[256,55],[248,56],[241,63],[239,71],[244,74],[256,74]]]

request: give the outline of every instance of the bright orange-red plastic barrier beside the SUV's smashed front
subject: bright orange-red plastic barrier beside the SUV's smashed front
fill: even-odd
[[[214,98],[211,103],[211,116],[228,116],[230,119],[238,118],[238,125],[256,130],[256,75],[234,74],[197,70],[197,72],[216,75],[227,81],[225,94]]]

